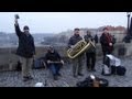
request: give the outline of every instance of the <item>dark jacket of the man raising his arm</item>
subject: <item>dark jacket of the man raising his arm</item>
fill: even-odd
[[[35,45],[34,45],[34,38],[31,34],[26,35],[23,32],[21,32],[19,24],[15,25],[15,33],[19,37],[19,47],[16,50],[16,54],[19,56],[31,58],[35,54]]]

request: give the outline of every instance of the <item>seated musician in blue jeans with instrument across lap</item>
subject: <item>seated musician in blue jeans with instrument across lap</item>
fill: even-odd
[[[62,65],[64,65],[64,61],[62,59],[61,55],[57,51],[54,50],[53,46],[50,46],[47,53],[45,54],[45,61],[47,67],[51,69],[54,80],[58,79],[58,76],[62,76],[59,70]]]

